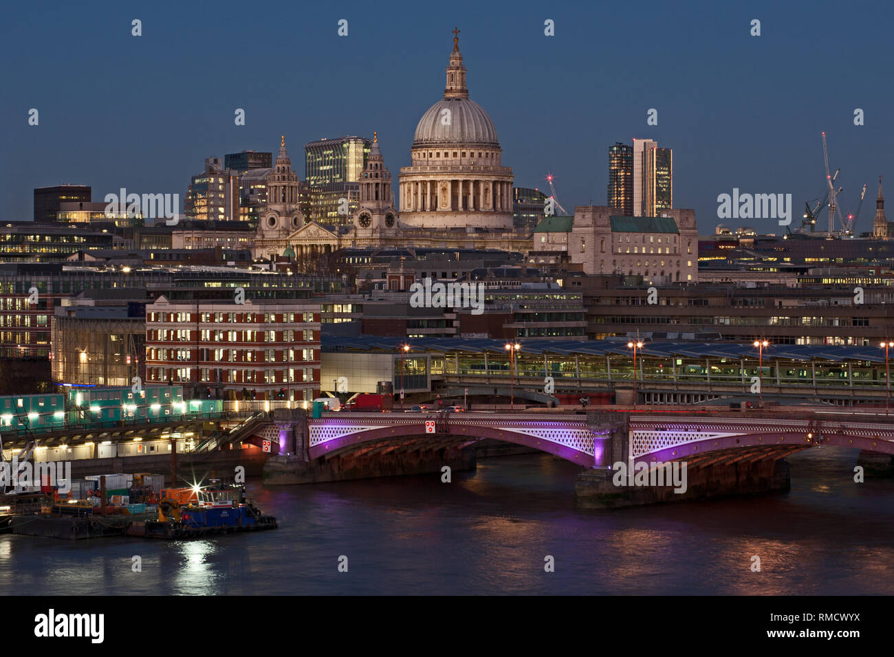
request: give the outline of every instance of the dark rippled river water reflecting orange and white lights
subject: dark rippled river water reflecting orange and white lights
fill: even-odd
[[[606,511],[574,510],[578,467],[547,455],[479,459],[451,484],[255,482],[249,497],[276,531],[2,535],[0,594],[891,594],[894,479],[855,484],[855,461],[801,452],[790,493]]]

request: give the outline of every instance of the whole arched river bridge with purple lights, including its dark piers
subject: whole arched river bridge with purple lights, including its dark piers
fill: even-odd
[[[275,418],[274,414],[280,427],[280,451],[289,454],[284,460],[281,457],[280,465],[303,462],[303,467],[314,473],[308,481],[437,471],[482,441],[494,440],[578,464],[582,468],[578,493],[581,482],[589,482],[608,500],[597,506],[683,499],[669,497],[668,491],[612,487],[612,468],[619,462],[637,469],[669,462],[685,464],[690,493],[684,497],[692,497],[788,489],[784,459],[808,448],[850,448],[881,457],[888,464],[894,455],[894,419],[883,412],[822,408],[773,412],[653,409],[591,411],[586,415],[567,411],[342,412],[319,418],[297,416],[292,411],[291,416]],[[394,463],[395,459],[415,459],[417,466],[407,472],[400,468],[376,470],[377,462]],[[333,462],[338,465],[327,465]],[[327,470],[338,474],[327,476]]]

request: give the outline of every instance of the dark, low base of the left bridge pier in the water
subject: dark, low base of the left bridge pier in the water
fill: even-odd
[[[367,458],[352,458],[347,455],[314,461],[274,457],[264,467],[264,484],[316,484],[379,476],[423,475],[440,473],[443,466],[450,466],[454,471],[474,470],[475,450],[442,449]]]

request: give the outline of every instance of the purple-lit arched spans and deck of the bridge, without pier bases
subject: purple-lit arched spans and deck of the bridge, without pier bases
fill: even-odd
[[[780,459],[817,445],[894,454],[894,417],[822,409],[692,415],[595,411],[586,416],[342,412],[308,419],[307,448],[310,459],[332,459],[462,449],[488,438],[588,468],[629,459],[709,465]]]

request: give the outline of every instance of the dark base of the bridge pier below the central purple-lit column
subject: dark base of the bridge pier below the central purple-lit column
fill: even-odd
[[[791,486],[786,459],[687,467],[685,493],[674,493],[672,486],[616,486],[612,475],[607,469],[586,470],[578,475],[574,486],[576,508],[617,509],[730,495],[784,493]]]

